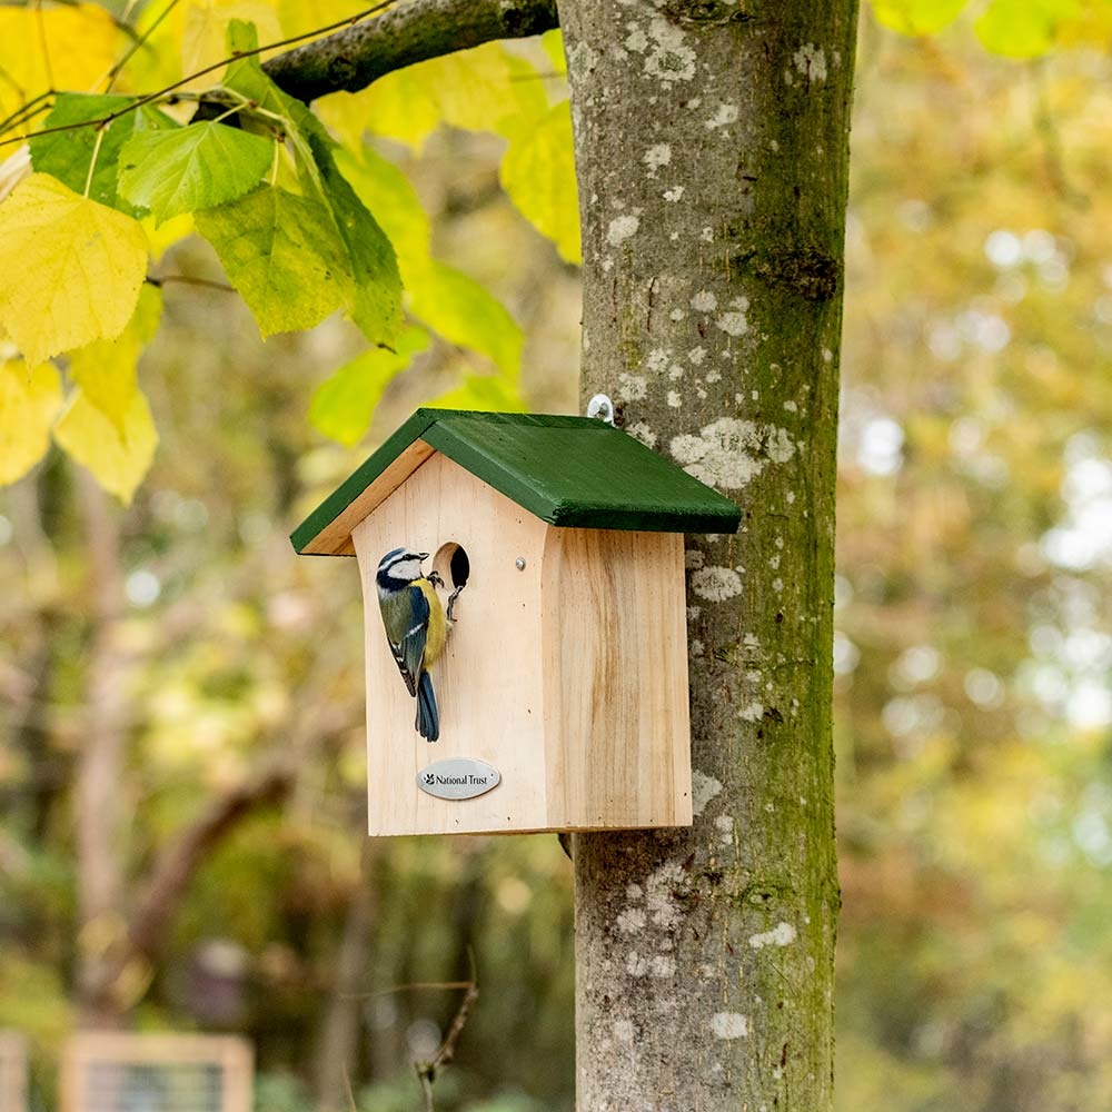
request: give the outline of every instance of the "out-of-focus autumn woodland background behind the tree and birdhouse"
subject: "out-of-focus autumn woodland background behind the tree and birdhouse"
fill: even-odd
[[[863,11],[835,643],[846,1112],[1102,1112],[1112,1092],[1112,60],[1102,4],[1031,14],[1051,7]],[[513,404],[575,411],[574,249],[507,199],[504,148],[439,128],[375,153],[431,215],[433,256],[520,326]],[[220,278],[197,240],[171,267]],[[119,941],[77,919],[81,755],[107,736],[125,917],[199,816],[279,783],[120,971],[129,1022],[248,1034],[264,1112],[401,1112],[459,1003],[437,985],[474,969],[438,1108],[570,1109],[570,866],[548,836],[367,842],[355,569],[286,539],[414,406],[498,407],[499,379],[440,337],[342,447],[307,418],[360,351],[349,326],[264,344],[235,297],[163,292],[140,371],[161,443],[131,506],[57,449],[0,492],[0,1027],[31,1041],[36,1106],[80,970]]]

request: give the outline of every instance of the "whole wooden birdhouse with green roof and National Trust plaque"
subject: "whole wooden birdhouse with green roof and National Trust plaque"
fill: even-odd
[[[358,559],[370,833],[689,825],[683,534],[739,518],[604,421],[419,409],[291,537]],[[396,549],[428,554],[434,608],[457,595],[436,741],[380,609]]]

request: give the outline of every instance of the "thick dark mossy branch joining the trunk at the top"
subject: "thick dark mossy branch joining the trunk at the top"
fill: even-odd
[[[309,103],[329,92],[358,92],[416,62],[558,26],[555,0],[410,0],[262,68],[284,92]]]

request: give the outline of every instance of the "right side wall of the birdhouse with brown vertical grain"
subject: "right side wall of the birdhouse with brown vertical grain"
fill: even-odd
[[[683,537],[550,529],[543,596],[553,825],[691,825]]]

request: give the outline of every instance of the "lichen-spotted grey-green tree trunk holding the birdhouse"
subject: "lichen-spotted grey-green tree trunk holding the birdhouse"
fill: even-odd
[[[854,0],[562,0],[583,396],[743,509],[687,542],[692,830],[575,840],[580,1112],[831,1108]]]

